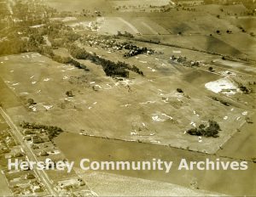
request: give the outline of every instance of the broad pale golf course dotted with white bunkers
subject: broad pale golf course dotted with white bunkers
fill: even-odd
[[[121,54],[86,49],[114,61],[123,59]],[[228,107],[209,98],[212,93],[204,84],[221,76],[177,68],[156,56],[127,59],[143,70],[146,77],[132,74],[131,79],[124,82],[103,76],[102,68],[88,61],[84,64],[90,72],[55,63],[38,53],[13,55],[3,61],[1,77],[16,97],[24,105],[28,98],[37,103],[34,111],[25,107],[9,108],[16,122],[36,121],[68,132],[83,131],[96,136],[214,153],[245,118],[241,115],[245,110],[236,104]],[[68,82],[74,76],[83,76],[84,82]],[[93,91],[93,86],[98,91]],[[182,88],[184,94],[177,93],[177,88]],[[65,95],[69,90],[73,91],[73,98]],[[247,113],[250,114],[250,110]],[[199,143],[197,137],[184,134],[192,124],[198,126],[208,120],[220,124],[220,138],[204,138],[204,143]]]

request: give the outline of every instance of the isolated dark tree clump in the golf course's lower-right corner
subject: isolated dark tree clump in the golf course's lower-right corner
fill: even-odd
[[[218,132],[221,131],[216,121],[209,121],[208,126],[201,124],[198,128],[191,128],[187,131],[189,135],[218,138]]]

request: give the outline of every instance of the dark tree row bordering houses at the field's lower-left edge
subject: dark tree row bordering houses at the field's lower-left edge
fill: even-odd
[[[53,138],[57,137],[63,130],[60,127],[54,127],[54,126],[45,126],[37,123],[30,123],[23,121],[20,123],[20,127],[26,128],[26,129],[34,129],[34,130],[40,130],[41,132],[45,132],[48,135],[49,140],[52,140]]]

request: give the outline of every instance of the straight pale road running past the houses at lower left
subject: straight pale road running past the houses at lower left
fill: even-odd
[[[3,110],[2,107],[0,107],[0,114],[3,116],[4,120],[8,123],[9,127],[12,129],[13,134],[18,139],[18,142],[20,143],[23,150],[25,151],[28,160],[38,161],[37,156],[34,155],[34,153],[32,152],[32,149],[23,140],[23,136],[20,133],[19,128],[15,126],[15,123],[10,119],[9,115],[6,114],[6,112]],[[38,169],[36,168],[34,168],[34,172],[37,174],[41,182],[44,183],[44,186],[49,191],[49,194],[53,196],[58,196],[58,193],[55,191],[53,187],[53,183],[49,180],[49,177],[47,176],[46,172],[38,171]]]

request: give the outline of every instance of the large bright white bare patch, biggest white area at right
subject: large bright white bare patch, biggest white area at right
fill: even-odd
[[[238,87],[233,82],[230,82],[228,78],[219,79],[214,82],[208,82],[205,84],[205,87],[207,87],[207,89],[213,93],[225,93],[230,95],[239,92]]]

